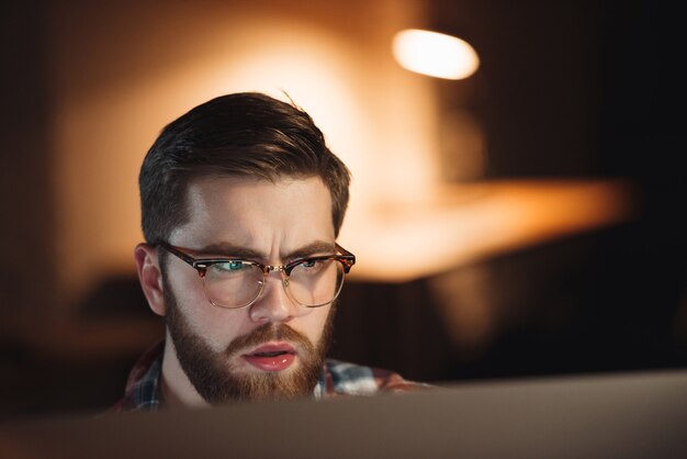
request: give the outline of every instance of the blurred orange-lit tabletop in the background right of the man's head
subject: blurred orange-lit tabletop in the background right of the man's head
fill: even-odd
[[[618,224],[638,211],[621,179],[523,179],[455,184],[413,203],[347,216],[339,240],[351,278],[403,282],[480,258]]]

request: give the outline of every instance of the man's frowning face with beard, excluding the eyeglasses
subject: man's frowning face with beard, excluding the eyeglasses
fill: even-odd
[[[191,184],[187,203],[189,222],[169,243],[196,258],[240,256],[277,266],[334,253],[331,199],[318,178],[203,178]],[[205,401],[312,394],[329,342],[331,305],[294,304],[281,273],[271,272],[250,306],[217,307],[194,269],[173,256],[166,262],[168,339]]]

